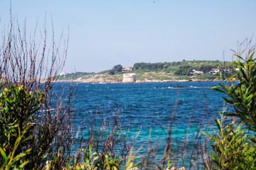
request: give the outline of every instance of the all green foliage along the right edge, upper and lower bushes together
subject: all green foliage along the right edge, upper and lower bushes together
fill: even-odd
[[[223,99],[233,106],[234,111],[223,112],[226,117],[221,115],[221,120],[215,120],[218,127],[218,131],[214,130],[216,135],[206,134],[212,141],[211,161],[205,162],[208,169],[255,169],[256,166],[256,63],[253,58],[255,46],[250,47],[250,42],[241,44],[245,50],[233,51],[238,60],[231,64],[239,71],[212,88],[228,96]],[[234,81],[235,78],[238,82]],[[234,120],[224,125],[224,119],[230,116],[242,122]]]

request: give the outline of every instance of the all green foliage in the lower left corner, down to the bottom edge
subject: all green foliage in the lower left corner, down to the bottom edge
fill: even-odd
[[[45,101],[44,96],[40,91],[37,91],[37,94],[28,92],[24,86],[1,84],[0,150],[2,157],[0,157],[0,164],[6,169],[11,167],[31,169],[42,166],[41,164],[46,162],[47,154],[52,153],[53,147],[59,150],[63,147],[58,137],[55,137],[55,134],[51,135],[43,125],[38,124],[36,119],[38,110]],[[59,123],[63,122],[59,121]],[[52,123],[52,125],[59,126],[59,130],[63,131],[59,123]],[[58,129],[55,128],[55,130]],[[54,132],[54,130],[51,131]],[[50,144],[53,140],[59,147]],[[63,157],[60,152],[58,157],[50,157],[53,164],[63,162],[58,159]]]

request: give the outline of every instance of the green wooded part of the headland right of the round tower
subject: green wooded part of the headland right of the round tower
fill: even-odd
[[[235,66],[234,66],[235,67]],[[195,75],[191,77],[193,69],[203,72],[203,75]],[[154,79],[154,80],[168,80],[168,79],[215,79],[220,77],[220,74],[210,74],[210,69],[220,69],[223,72],[223,79],[231,76],[233,67],[230,62],[221,62],[219,60],[193,60],[181,62],[157,62],[146,63],[137,62],[134,64],[134,71],[131,73],[137,74],[137,79]],[[150,73],[150,74],[149,74]]]

